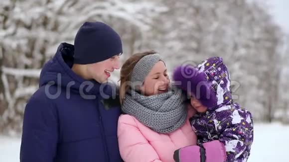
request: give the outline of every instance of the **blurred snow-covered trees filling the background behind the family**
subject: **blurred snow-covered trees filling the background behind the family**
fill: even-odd
[[[73,43],[84,21],[96,20],[120,33],[123,60],[155,50],[172,70],[223,57],[235,100],[255,120],[271,121],[288,108],[289,59],[266,7],[252,0],[0,0],[0,132],[21,130],[43,64],[59,43]]]

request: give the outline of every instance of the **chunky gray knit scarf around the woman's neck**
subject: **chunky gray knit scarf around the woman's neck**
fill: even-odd
[[[168,134],[180,128],[186,120],[184,100],[185,96],[177,88],[151,96],[144,96],[131,89],[131,93],[125,96],[122,110],[150,129]]]

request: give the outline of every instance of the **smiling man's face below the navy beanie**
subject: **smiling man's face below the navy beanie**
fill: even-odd
[[[89,64],[87,66],[90,78],[99,83],[107,82],[115,69],[120,69],[120,55],[115,55],[102,62]]]

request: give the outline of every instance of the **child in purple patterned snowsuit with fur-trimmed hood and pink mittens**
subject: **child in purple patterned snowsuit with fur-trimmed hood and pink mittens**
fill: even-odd
[[[201,162],[246,162],[253,143],[252,115],[233,101],[223,59],[211,57],[197,67],[180,66],[173,80],[188,92],[191,105],[198,112],[190,119],[198,146],[175,151],[174,159],[189,162],[188,157],[195,159],[193,155],[198,152]]]

